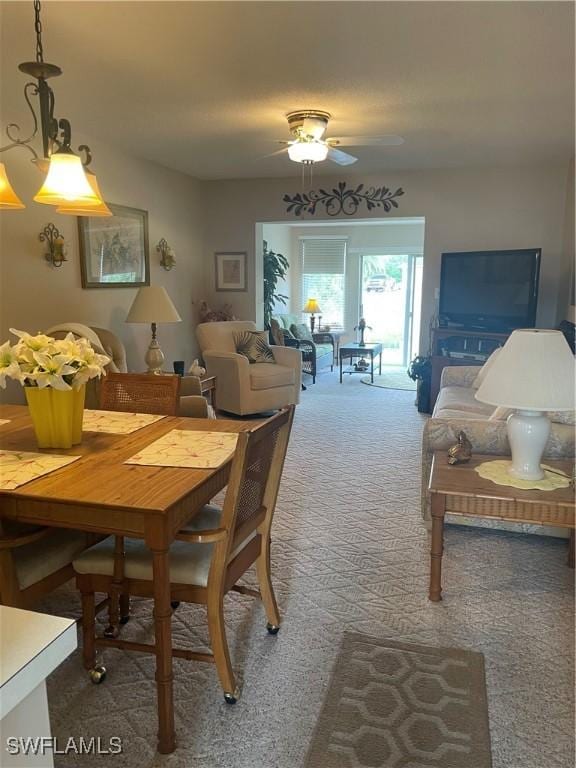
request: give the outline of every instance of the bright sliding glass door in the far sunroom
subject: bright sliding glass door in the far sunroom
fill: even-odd
[[[385,365],[406,366],[416,354],[421,303],[421,256],[362,256],[360,314],[371,329],[366,339],[382,344]]]

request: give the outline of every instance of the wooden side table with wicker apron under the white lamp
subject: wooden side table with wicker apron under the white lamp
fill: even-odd
[[[570,528],[568,565],[574,568],[574,489],[555,491],[523,491],[485,480],[475,467],[498,456],[474,456],[468,464],[450,466],[446,451],[436,451],[430,472],[428,490],[432,494],[432,546],[430,551],[430,593],[433,602],[442,599],[442,552],[444,548],[444,515],[465,515],[506,520],[512,523],[549,525]],[[569,477],[573,461],[544,463]]]

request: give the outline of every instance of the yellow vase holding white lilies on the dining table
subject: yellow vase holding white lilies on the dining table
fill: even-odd
[[[24,387],[39,448],[71,448],[82,441],[86,386],[66,391]]]

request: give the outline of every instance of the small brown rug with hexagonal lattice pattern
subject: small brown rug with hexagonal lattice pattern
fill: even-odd
[[[481,653],[344,634],[306,768],[490,768],[490,753]]]

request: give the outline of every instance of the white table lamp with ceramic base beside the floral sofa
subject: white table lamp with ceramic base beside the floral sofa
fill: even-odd
[[[574,384],[574,357],[560,331],[512,332],[476,392],[483,403],[514,409],[507,421],[510,475],[544,477],[540,459],[550,434],[547,411],[573,410]]]

